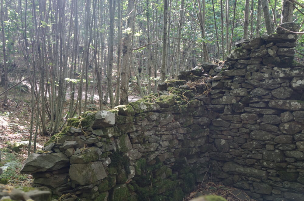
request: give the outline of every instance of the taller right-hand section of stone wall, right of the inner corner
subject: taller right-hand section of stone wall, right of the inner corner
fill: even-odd
[[[298,31],[294,23],[281,26]],[[261,201],[303,200],[304,68],[293,61],[296,39],[278,29],[237,43],[225,65],[202,65],[212,75],[204,79],[212,91],[203,101],[213,111],[213,181]]]

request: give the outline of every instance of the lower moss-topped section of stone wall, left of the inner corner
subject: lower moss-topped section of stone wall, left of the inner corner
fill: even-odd
[[[178,95],[161,94],[69,119],[21,172],[33,175],[33,186],[47,186],[58,196],[182,200],[207,170],[210,121],[201,121],[202,101],[186,105]]]

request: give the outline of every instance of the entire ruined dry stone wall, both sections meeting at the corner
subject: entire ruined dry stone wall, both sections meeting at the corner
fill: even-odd
[[[259,201],[302,201],[304,67],[286,31],[298,25],[281,27],[159,94],[69,119],[22,173],[81,200],[182,200],[211,178]]]

